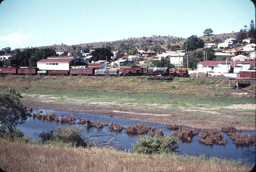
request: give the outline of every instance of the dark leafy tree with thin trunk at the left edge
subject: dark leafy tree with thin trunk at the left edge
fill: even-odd
[[[0,122],[10,132],[10,140],[12,140],[13,130],[18,124],[25,123],[30,115],[26,107],[20,103],[20,98],[23,98],[14,89],[10,93],[0,93]]]

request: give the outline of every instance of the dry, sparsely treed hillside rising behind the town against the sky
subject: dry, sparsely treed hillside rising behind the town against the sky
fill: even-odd
[[[229,39],[229,38],[235,38],[235,35],[238,32],[232,32],[232,33],[222,33],[222,34],[214,34],[209,36],[201,36],[199,38],[203,40],[214,40],[215,38],[222,38],[223,40]],[[118,47],[121,43],[124,43],[125,45],[133,44],[136,47],[138,47],[140,44],[145,43],[147,45],[154,45],[154,44],[160,44],[161,47],[166,47],[168,43],[171,43],[172,45],[179,45],[180,47],[184,44],[186,41],[186,38],[182,37],[175,37],[175,36],[160,36],[160,35],[152,35],[151,37],[141,37],[141,38],[129,38],[129,39],[120,39],[116,41],[110,41],[110,42],[93,42],[93,43],[83,43],[83,44],[77,44],[77,45],[51,45],[51,46],[42,46],[42,47],[36,47],[36,48],[53,48],[56,52],[63,52],[63,51],[70,51],[73,50],[73,47],[81,46],[81,47],[93,47],[93,48],[99,48],[99,47],[107,47],[107,46],[115,46]],[[138,47],[139,48],[139,47]],[[21,49],[23,51],[25,48]]]

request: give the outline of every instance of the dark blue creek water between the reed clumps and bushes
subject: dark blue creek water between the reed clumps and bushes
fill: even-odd
[[[34,109],[34,111],[40,111],[41,109]],[[121,125],[128,126],[128,125],[135,125],[135,124],[145,124],[148,126],[156,127],[157,129],[163,130],[163,133],[165,136],[170,135],[172,132],[175,132],[176,130],[169,130],[167,129],[166,125],[159,125],[154,123],[146,123],[146,122],[139,122],[139,121],[132,121],[128,119],[119,119],[119,118],[111,118],[109,116],[104,115],[94,115],[94,114],[88,114],[88,113],[73,113],[73,112],[63,112],[63,111],[52,111],[52,110],[42,110],[43,113],[45,112],[56,112],[56,114],[60,117],[60,115],[64,116],[70,116],[72,114],[74,117],[81,117],[86,118],[86,120],[94,120],[94,122],[97,122],[99,119],[102,120],[102,122],[117,122]],[[48,120],[42,120],[42,119],[33,119],[28,118],[24,124],[18,125],[18,128],[23,131],[25,135],[30,136],[32,139],[38,140],[39,134],[42,132],[47,132],[50,130],[56,129],[58,126],[81,126],[83,128],[82,135],[84,137],[88,137],[92,133],[95,132],[96,128],[92,127],[84,127],[84,125],[70,125],[70,124],[62,124],[60,122],[56,121],[48,121]],[[256,135],[256,131],[253,132],[242,132]],[[127,134],[125,132],[125,129],[123,129],[121,132],[110,132],[108,126],[104,126],[103,128],[99,128],[94,135],[101,135],[101,134],[112,134],[113,136],[118,136],[116,139],[115,147],[124,148],[125,150],[130,150],[132,148],[132,143],[136,143],[136,139],[139,138],[137,134]],[[198,136],[200,133],[198,133],[196,136],[193,137],[192,142],[185,142],[184,140],[179,141],[179,154],[189,154],[193,156],[200,156],[200,154],[205,154],[208,157],[218,157],[218,158],[225,158],[225,159],[243,159],[244,161],[247,160],[247,162],[255,163],[255,153],[252,151],[255,151],[255,145],[254,146],[236,146],[233,141],[230,139],[230,137],[225,134],[225,138],[227,139],[226,145],[212,145],[207,146],[198,141]],[[99,140],[105,140],[109,137],[99,137],[97,141]],[[94,141],[94,140],[92,140]],[[247,150],[247,152],[245,151]],[[245,152],[245,153],[243,153]]]

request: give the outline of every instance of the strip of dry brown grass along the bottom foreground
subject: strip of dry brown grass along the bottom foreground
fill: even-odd
[[[0,167],[5,171],[250,171],[241,161],[181,156],[138,154],[110,148],[73,148],[50,145],[17,144],[0,140]]]

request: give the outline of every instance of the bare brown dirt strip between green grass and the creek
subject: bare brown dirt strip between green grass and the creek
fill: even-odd
[[[223,126],[235,126],[242,131],[255,131],[255,118],[249,118],[245,121],[244,117],[255,116],[255,112],[243,112],[243,110],[255,110],[255,104],[233,105],[226,107],[193,108],[179,110],[168,110],[165,107],[158,107],[155,110],[146,110],[141,107],[132,108],[124,106],[86,106],[69,104],[58,104],[55,102],[42,101],[34,99],[33,101],[23,99],[23,104],[27,108],[49,109],[56,111],[84,112],[99,115],[111,115],[112,118],[130,119],[135,121],[144,121],[162,125],[186,126],[194,129],[221,130]],[[200,111],[206,115],[199,115]],[[242,114],[242,115],[241,115]]]

